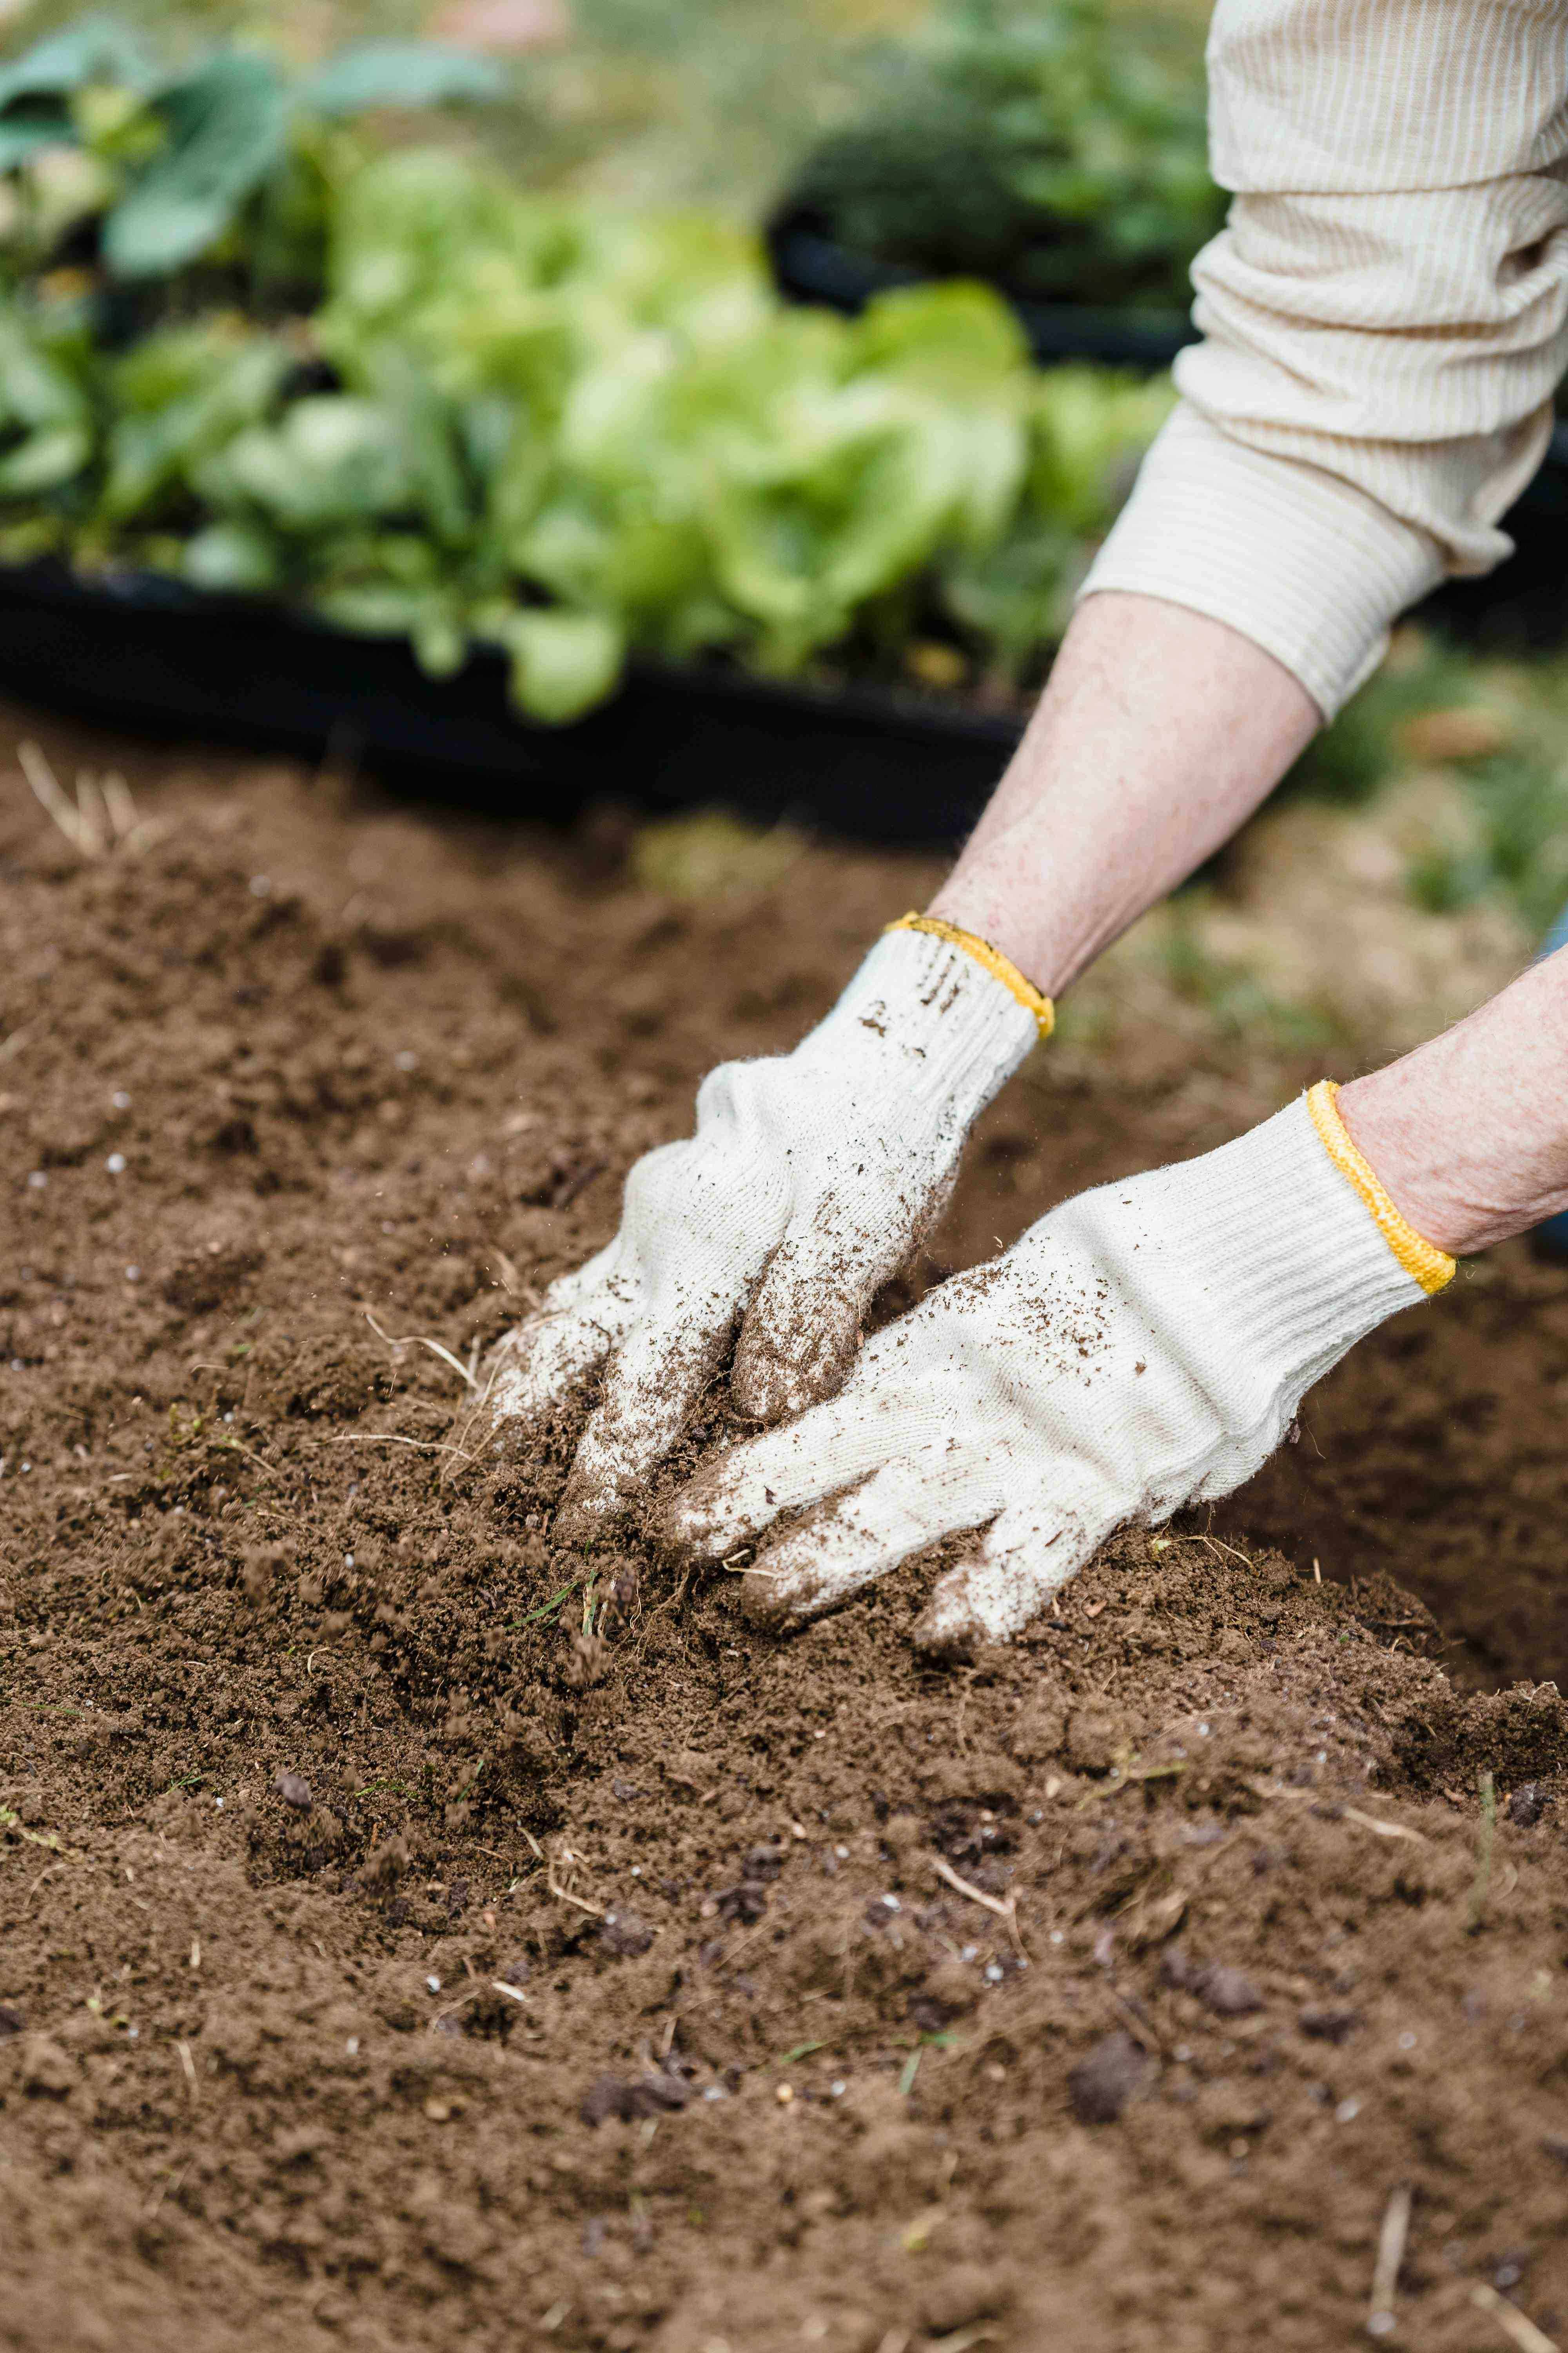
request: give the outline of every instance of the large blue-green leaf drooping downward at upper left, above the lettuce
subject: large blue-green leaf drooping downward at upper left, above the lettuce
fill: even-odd
[[[103,224],[103,259],[120,278],[195,261],[284,158],[287,94],[263,56],[212,56],[167,85],[153,111],[167,125],[167,146]]]

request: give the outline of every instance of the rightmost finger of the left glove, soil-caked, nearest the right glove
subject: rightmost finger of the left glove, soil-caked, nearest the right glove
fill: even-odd
[[[795,1219],[736,1346],[731,1398],[752,1421],[783,1421],[835,1395],[860,1348],[865,1311],[898,1273],[943,1186],[893,1214],[825,1195]]]

